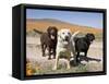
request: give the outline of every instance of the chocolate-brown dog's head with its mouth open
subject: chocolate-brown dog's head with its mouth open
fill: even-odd
[[[48,35],[51,39],[57,38],[57,32],[58,32],[58,29],[57,29],[56,26],[49,26],[48,29],[47,29],[47,33],[48,33]]]

